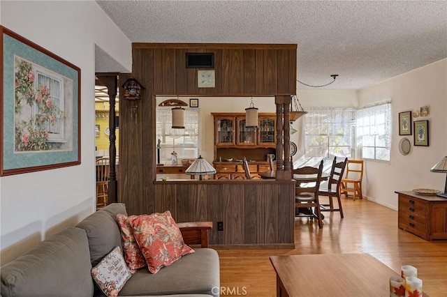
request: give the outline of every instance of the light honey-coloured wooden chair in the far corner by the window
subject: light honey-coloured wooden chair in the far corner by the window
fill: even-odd
[[[347,198],[349,193],[353,194],[353,200],[358,196],[360,199],[362,195],[362,178],[363,178],[363,160],[348,160],[346,163],[346,176],[342,178],[342,185],[340,186],[340,195],[344,194]],[[352,184],[352,187],[349,186]]]

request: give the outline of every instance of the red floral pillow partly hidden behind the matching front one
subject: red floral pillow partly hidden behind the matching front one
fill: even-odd
[[[138,215],[131,215],[129,218],[134,220]],[[129,218],[122,213],[117,214],[119,228],[121,229],[121,239],[123,243],[124,259],[131,270],[135,273],[138,268],[147,266],[145,256],[142,255],[138,243],[133,236],[132,226],[129,223]]]

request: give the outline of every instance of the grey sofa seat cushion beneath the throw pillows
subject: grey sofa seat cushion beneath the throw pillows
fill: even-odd
[[[215,250],[198,248],[158,273],[138,269],[119,296],[208,294],[219,296],[219,256]]]

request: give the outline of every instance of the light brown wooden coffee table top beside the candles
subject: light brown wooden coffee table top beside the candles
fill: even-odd
[[[288,296],[389,296],[399,276],[370,254],[272,256]]]

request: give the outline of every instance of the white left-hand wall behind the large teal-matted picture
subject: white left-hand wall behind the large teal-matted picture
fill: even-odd
[[[81,165],[0,178],[1,264],[95,210],[95,44],[131,70],[131,43],[95,1],[0,1],[1,25],[81,69]]]

